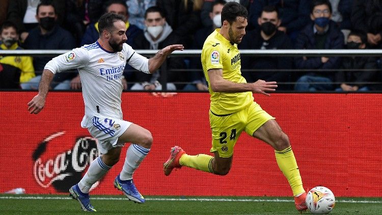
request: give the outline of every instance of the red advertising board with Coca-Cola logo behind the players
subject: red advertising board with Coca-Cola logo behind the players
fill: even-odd
[[[81,93],[51,92],[40,114],[27,103],[36,92],[1,92],[0,192],[66,193],[98,156],[96,140],[80,127]],[[330,188],[336,196],[382,196],[382,94],[272,94],[255,100],[288,134],[304,187]],[[291,196],[274,150],[243,133],[226,176],[182,168],[170,176],[162,164],[173,145],[189,155],[209,153],[209,95],[123,93],[124,119],[151,131],[154,143],[134,173],[143,195]],[[92,194],[119,194],[113,180],[120,161]]]

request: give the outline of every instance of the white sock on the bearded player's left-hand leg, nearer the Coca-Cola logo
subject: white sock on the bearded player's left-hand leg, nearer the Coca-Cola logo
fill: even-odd
[[[78,188],[83,193],[89,193],[92,185],[101,179],[108,170],[110,170],[110,166],[107,166],[103,163],[101,156],[94,159],[89,166],[88,171],[84,175],[84,177],[78,182]]]

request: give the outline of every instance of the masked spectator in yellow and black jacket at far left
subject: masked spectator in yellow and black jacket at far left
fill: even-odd
[[[15,24],[5,21],[0,28],[0,48],[21,50]],[[0,56],[0,88],[20,88],[20,83],[35,77],[31,56]]]

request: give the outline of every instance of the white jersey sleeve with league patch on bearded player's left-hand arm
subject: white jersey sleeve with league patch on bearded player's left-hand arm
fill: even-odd
[[[51,59],[44,69],[50,70],[53,74],[85,67],[89,63],[89,54],[84,48],[75,48],[65,54],[61,54]]]

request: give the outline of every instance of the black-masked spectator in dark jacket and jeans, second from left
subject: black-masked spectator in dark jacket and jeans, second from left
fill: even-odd
[[[57,14],[49,1],[41,1],[37,7],[36,19],[39,26],[29,32],[23,47],[25,49],[62,49],[70,50],[75,47],[74,38],[70,33],[57,25]],[[38,89],[41,73],[51,57],[34,57],[33,65],[38,76],[21,84],[23,89]],[[54,76],[51,87],[53,89],[67,89],[70,80],[76,76],[74,72],[62,72]]]

